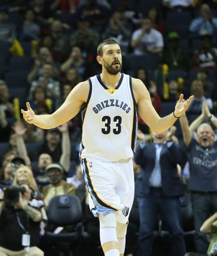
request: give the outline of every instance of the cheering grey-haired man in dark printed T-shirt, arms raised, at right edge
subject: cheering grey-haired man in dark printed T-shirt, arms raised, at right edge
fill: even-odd
[[[203,222],[217,211],[217,142],[209,124],[200,124],[197,140],[192,136],[186,115],[180,117],[184,142],[190,162],[188,188],[192,194],[197,252],[205,254],[208,241],[200,229]]]

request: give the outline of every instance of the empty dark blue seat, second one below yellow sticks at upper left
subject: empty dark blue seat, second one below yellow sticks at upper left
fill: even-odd
[[[19,71],[18,72],[8,72],[5,74],[5,81],[9,88],[21,88],[27,87],[27,76],[28,72]]]

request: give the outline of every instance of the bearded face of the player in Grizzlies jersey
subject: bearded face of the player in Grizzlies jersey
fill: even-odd
[[[111,75],[116,75],[121,71],[122,56],[118,44],[108,44],[103,47],[102,65]]]

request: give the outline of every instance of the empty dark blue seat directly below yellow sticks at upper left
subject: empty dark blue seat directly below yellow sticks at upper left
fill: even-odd
[[[9,71],[30,71],[32,59],[31,57],[11,57],[9,62]]]

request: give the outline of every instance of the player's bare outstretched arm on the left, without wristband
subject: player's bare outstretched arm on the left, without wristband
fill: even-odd
[[[29,124],[35,124],[43,129],[52,129],[72,119],[87,101],[89,94],[89,81],[79,83],[72,89],[66,101],[50,115],[35,115],[27,102],[27,111],[21,109],[23,118]]]

